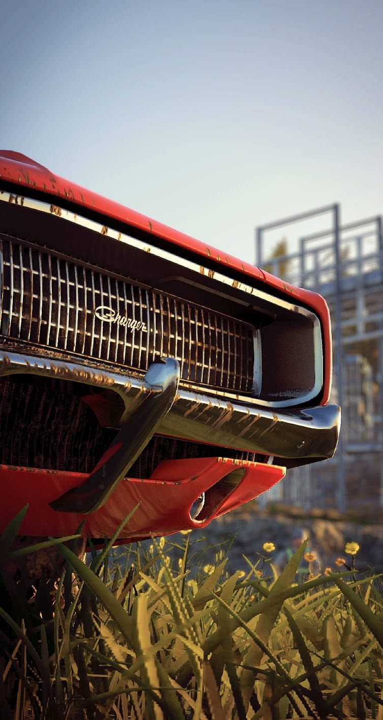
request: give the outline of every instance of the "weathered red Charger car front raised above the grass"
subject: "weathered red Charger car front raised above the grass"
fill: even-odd
[[[0,530],[205,526],[333,455],[318,294],[0,151]]]

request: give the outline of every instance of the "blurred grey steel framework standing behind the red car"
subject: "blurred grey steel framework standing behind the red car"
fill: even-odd
[[[331,227],[297,238],[298,251],[285,256],[266,257],[264,239],[267,230],[312,217],[331,217]],[[256,228],[256,264],[299,287],[313,289],[326,297],[333,322],[334,376],[338,402],[343,405],[343,431],[334,462],[337,477],[337,505],[344,512],[348,460],[354,459],[354,470],[362,454],[374,454],[379,478],[380,503],[383,504],[383,223],[382,216],[368,217],[346,225],[340,223],[340,206],[331,204],[316,210],[285,217]],[[356,377],[364,387],[371,374],[366,362],[350,360],[349,352],[363,356],[366,343],[374,343],[376,363],[374,384],[373,428],[361,413],[356,431],[355,402],[351,402]],[[364,368],[362,371],[361,369]],[[361,377],[361,374],[364,377]],[[351,382],[350,378],[353,377]],[[352,386],[352,387],[351,387]],[[370,393],[371,394],[371,393]],[[368,404],[368,403],[367,403]],[[351,416],[352,415],[352,416]],[[354,428],[353,433],[347,428]],[[329,461],[331,462],[331,461]],[[356,464],[356,465],[355,465]],[[360,463],[361,464],[361,463]],[[304,469],[306,479],[318,472]],[[361,472],[363,472],[361,470]],[[302,478],[300,478],[300,482]],[[299,500],[296,497],[295,501]],[[318,498],[316,498],[318,502]],[[306,503],[308,504],[308,503]]]

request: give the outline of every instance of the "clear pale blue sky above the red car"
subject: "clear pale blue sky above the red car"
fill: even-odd
[[[250,262],[382,212],[382,0],[3,2],[0,147]]]

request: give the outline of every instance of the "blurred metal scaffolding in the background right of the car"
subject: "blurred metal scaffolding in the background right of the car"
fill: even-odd
[[[331,227],[298,237],[298,251],[266,257],[267,230],[326,215]],[[287,282],[312,289],[326,298],[333,324],[334,400],[342,406],[342,431],[333,460],[326,469],[308,466],[290,471],[286,497],[298,504],[326,503],[330,477],[341,512],[356,498],[357,479],[366,478],[373,502],[383,504],[383,233],[382,216],[340,224],[340,206],[328,205],[271,222],[256,230],[256,264]],[[368,473],[369,474],[369,473]],[[299,477],[298,477],[299,476]],[[363,485],[363,483],[362,483]],[[369,492],[365,492],[365,497]],[[291,496],[291,498],[290,498]]]

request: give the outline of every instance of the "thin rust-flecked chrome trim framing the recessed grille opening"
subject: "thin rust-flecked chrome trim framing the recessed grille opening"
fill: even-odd
[[[18,196],[19,198],[19,196]],[[9,192],[2,192],[0,194],[0,200],[3,202],[17,202],[18,198],[16,198],[13,194]],[[42,202],[42,200],[35,200],[29,197],[22,197],[22,202],[20,204],[20,207],[27,207],[31,210],[38,210],[39,212],[45,212],[47,215],[52,215],[52,212],[55,212],[57,209],[57,203],[60,202],[60,199],[55,199],[55,206],[52,206],[51,204],[47,202]],[[131,235],[127,235],[126,233],[121,233],[119,230],[114,230],[114,228],[106,228],[105,225],[101,225],[100,222],[96,222],[95,220],[89,220],[88,217],[85,217],[83,215],[78,215],[77,213],[74,213],[70,210],[65,210],[64,208],[60,208],[60,217],[63,220],[68,220],[69,222],[75,223],[75,225],[80,225],[83,228],[88,228],[88,230],[92,230],[93,232],[98,233],[99,235],[103,235],[105,238],[112,238],[113,240],[116,240],[117,242],[124,243],[125,245],[137,248],[140,251],[143,251],[144,253],[151,253],[154,256],[164,258],[174,264],[180,265],[180,258],[175,255],[174,253],[170,253],[170,251],[167,250],[161,250],[160,248],[157,248],[156,246],[150,244],[150,243],[144,243],[143,240],[139,240],[137,238],[132,238]],[[204,271],[203,268],[201,268],[200,265],[197,263],[187,260],[185,258],[182,258],[182,266],[188,268],[188,270],[195,272],[196,276],[201,276],[201,271]],[[257,405],[264,405],[265,407],[269,408],[280,408],[280,407],[291,407],[292,405],[297,405],[297,402],[300,404],[308,402],[312,400],[314,397],[318,395],[320,392],[321,387],[323,386],[323,347],[322,347],[322,334],[320,330],[320,321],[318,317],[309,310],[306,310],[304,307],[301,307],[300,305],[295,305],[295,303],[288,302],[287,300],[281,300],[280,298],[274,297],[271,294],[264,292],[263,290],[259,290],[252,286],[249,283],[245,282],[238,282],[237,280],[234,280],[232,277],[227,276],[223,274],[222,272],[215,270],[214,271],[214,280],[216,282],[220,282],[221,284],[229,287],[233,287],[235,284],[236,289],[240,290],[241,292],[245,292],[248,294],[249,302],[251,302],[253,299],[258,297],[261,300],[264,300],[266,302],[269,302],[272,305],[277,305],[277,307],[285,308],[286,310],[290,310],[292,312],[298,312],[302,315],[305,315],[306,318],[309,318],[311,322],[313,323],[313,339],[314,339],[314,353],[315,353],[315,382],[313,385],[312,390],[310,392],[306,393],[305,395],[302,395],[300,397],[294,397],[289,400],[277,400],[277,401],[269,401],[269,400],[258,400],[257,398],[250,399],[246,395],[241,395],[241,399],[244,400],[244,402],[250,402],[253,400],[253,402],[257,403]],[[101,299],[103,297],[103,292],[101,288]],[[133,308],[134,309],[134,308]],[[59,312],[59,322],[57,327],[57,336],[58,336],[58,330],[60,327],[60,312]],[[102,335],[102,331],[101,331]],[[100,338],[102,341],[102,338]],[[56,343],[57,346],[57,343]],[[132,341],[132,351],[133,351],[134,341]],[[100,345],[100,353],[101,353],[101,345]],[[161,353],[162,355],[162,353]],[[132,364],[132,361],[131,361]],[[181,381],[182,382],[182,381]],[[208,392],[210,393],[211,390],[208,389]],[[233,397],[233,391],[231,392],[225,392],[224,390],[219,391],[218,393],[221,397]],[[235,397],[235,396],[234,396]],[[239,397],[239,396],[238,396]]]

